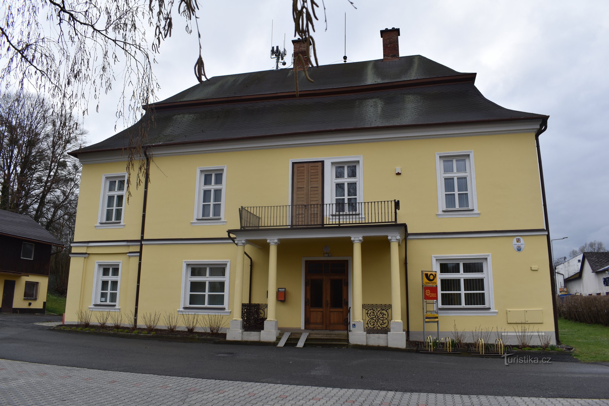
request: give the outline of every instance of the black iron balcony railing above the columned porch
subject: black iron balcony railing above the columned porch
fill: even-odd
[[[326,205],[241,206],[241,229],[348,226],[398,222],[400,200]]]

